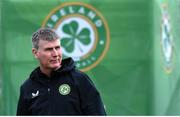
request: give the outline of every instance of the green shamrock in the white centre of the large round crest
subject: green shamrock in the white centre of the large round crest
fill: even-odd
[[[76,21],[65,24],[62,28],[67,37],[62,37],[61,44],[69,53],[73,52],[75,46],[83,52],[83,47],[91,42],[90,31],[88,28],[79,28]]]

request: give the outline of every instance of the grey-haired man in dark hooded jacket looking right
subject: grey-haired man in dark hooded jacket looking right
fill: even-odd
[[[32,45],[40,66],[20,88],[17,115],[106,115],[90,78],[75,69],[71,58],[62,60],[60,39],[53,29],[37,30]]]

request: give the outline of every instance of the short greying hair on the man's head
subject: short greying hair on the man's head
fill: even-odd
[[[38,49],[39,40],[52,41],[56,39],[59,39],[59,36],[54,29],[40,28],[32,35],[32,46]]]

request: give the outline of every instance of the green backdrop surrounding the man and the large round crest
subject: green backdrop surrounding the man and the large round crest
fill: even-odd
[[[20,85],[38,65],[32,33],[71,2],[91,6],[107,24],[106,51],[85,70],[107,114],[180,115],[180,0],[1,0],[0,115],[16,114]]]

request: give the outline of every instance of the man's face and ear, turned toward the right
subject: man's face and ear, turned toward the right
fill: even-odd
[[[61,66],[62,50],[59,39],[53,41],[39,41],[39,48],[32,49],[43,70],[56,70]]]

